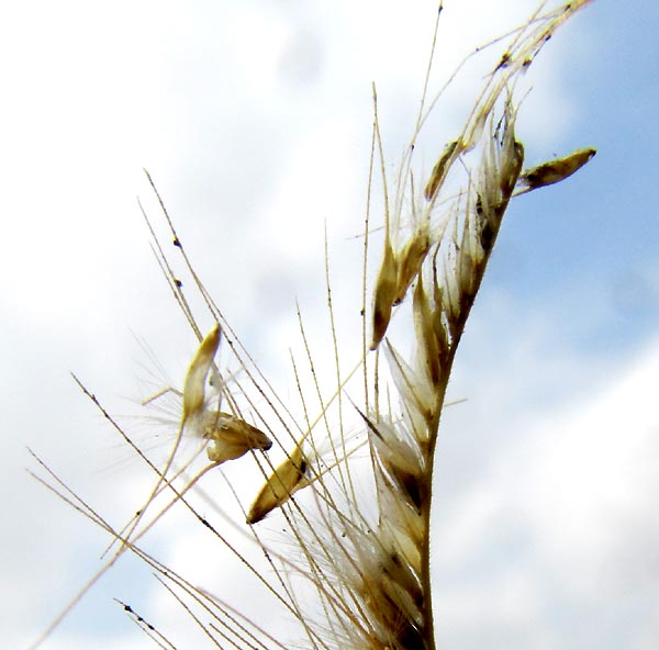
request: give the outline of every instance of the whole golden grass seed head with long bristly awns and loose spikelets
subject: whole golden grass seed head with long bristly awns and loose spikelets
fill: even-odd
[[[228,641],[230,647],[283,647],[248,618],[236,623],[237,615],[230,613],[228,607],[208,593],[196,591],[183,579],[172,578],[171,572],[136,545],[171,504],[185,502],[186,492],[206,471],[224,462],[244,462],[238,459],[249,456],[257,463],[264,483],[250,507],[244,511],[245,519],[256,542],[269,553],[273,578],[265,578],[257,568],[253,571],[301,624],[304,647],[372,650],[435,647],[429,573],[432,477],[453,360],[510,201],[563,180],[594,155],[594,149],[582,149],[525,169],[524,147],[515,133],[515,82],[556,29],[587,3],[588,0],[569,2],[546,13],[538,10],[525,25],[511,33],[511,42],[488,76],[462,132],[446,145],[424,179],[423,192],[416,194],[412,162],[427,116],[422,103],[391,203],[382,171],[384,240],[372,289],[372,309],[362,310],[368,337],[364,339],[361,358],[350,373],[342,376],[337,370],[336,392],[322,400],[315,421],[306,417],[303,425],[290,425],[286,405],[260,376],[198,279],[165,211],[174,243],[216,324],[202,336],[181,284],[156,239],[165,276],[200,345],[183,382],[177,441],[163,468],[152,466],[158,477],[155,488],[124,530],[115,531],[102,524],[121,542],[107,567],[124,550],[136,552],[180,589],[191,592],[192,599],[203,601],[206,609],[213,608],[213,616],[222,618],[226,627],[233,626],[235,636]],[[433,107],[434,102],[428,111]],[[377,111],[373,143],[381,157]],[[381,168],[384,169],[383,162]],[[460,176],[466,183],[456,190],[455,181]],[[369,236],[367,225],[367,243]],[[399,351],[390,336],[399,310],[400,318],[411,316],[409,330],[413,332],[415,343],[411,359]],[[243,384],[224,381],[215,365],[223,338],[245,373]],[[381,362],[380,352],[386,363]],[[348,394],[350,381],[360,373],[364,389],[360,397],[353,400]],[[387,391],[382,389],[384,382]],[[266,404],[266,412],[248,397],[249,386]],[[361,435],[347,433],[342,416],[344,394]],[[247,403],[249,415],[241,402]],[[336,429],[328,419],[333,408],[339,414]],[[320,440],[323,433],[326,444]],[[204,442],[210,466],[177,488],[175,480],[181,474],[172,470],[178,464],[177,452],[183,436]],[[266,453],[273,441],[283,453],[279,464],[272,463]],[[370,477],[366,486],[365,474]],[[357,485],[356,475],[360,479]],[[156,496],[166,491],[172,494],[170,504],[150,524],[139,528]],[[297,493],[301,491],[313,495],[312,498],[302,498],[302,493],[299,498]],[[280,514],[271,514],[277,508]],[[283,557],[261,540],[257,528],[268,515],[284,518],[298,546],[297,559]],[[214,529],[213,533],[243,560],[239,551]],[[306,589],[311,586],[315,592],[312,608],[301,604],[305,598],[294,595],[292,574],[302,576]],[[213,625],[199,625],[215,638]]]

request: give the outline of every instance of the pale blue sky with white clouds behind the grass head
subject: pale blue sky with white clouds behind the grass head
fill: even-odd
[[[3,647],[30,646],[107,543],[25,471],[37,470],[26,448],[114,520],[149,485],[70,372],[112,413],[132,413],[154,371],[145,347],[172,384],[196,347],[149,249],[136,197],[149,214],[157,204],[143,168],[283,393],[294,394],[295,301],[310,332],[324,326],[324,224],[343,310],[354,280],[342,256],[360,255],[370,85],[393,172],[436,13],[425,0],[355,4],[0,9]],[[435,88],[535,5],[446,0]],[[527,160],[597,155],[511,206],[458,354],[449,397],[467,402],[443,424],[433,529],[448,650],[659,641],[658,13],[595,1],[529,76],[517,125]],[[466,70],[439,103],[418,152],[426,169],[481,81]],[[200,561],[199,531],[174,522],[153,548],[201,583],[236,587],[231,569]],[[122,561],[42,647],[150,647],[113,598],[156,620],[171,607],[148,570]]]

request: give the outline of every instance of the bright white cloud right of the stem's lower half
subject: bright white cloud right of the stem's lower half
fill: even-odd
[[[537,357],[527,377],[550,363]],[[505,376],[509,367],[498,369]],[[480,440],[487,460],[476,470],[454,448],[479,441],[462,436],[459,416],[445,429],[439,475],[451,458],[468,473],[467,490],[436,504],[436,609],[447,648],[492,638],[492,625],[515,630],[510,648],[652,647],[637,630],[652,628],[648,606],[659,594],[659,345],[605,370],[567,406],[515,419],[492,413],[494,435]],[[487,392],[481,385],[470,397]],[[560,617],[572,623],[561,627]],[[602,617],[612,646],[600,645]]]

